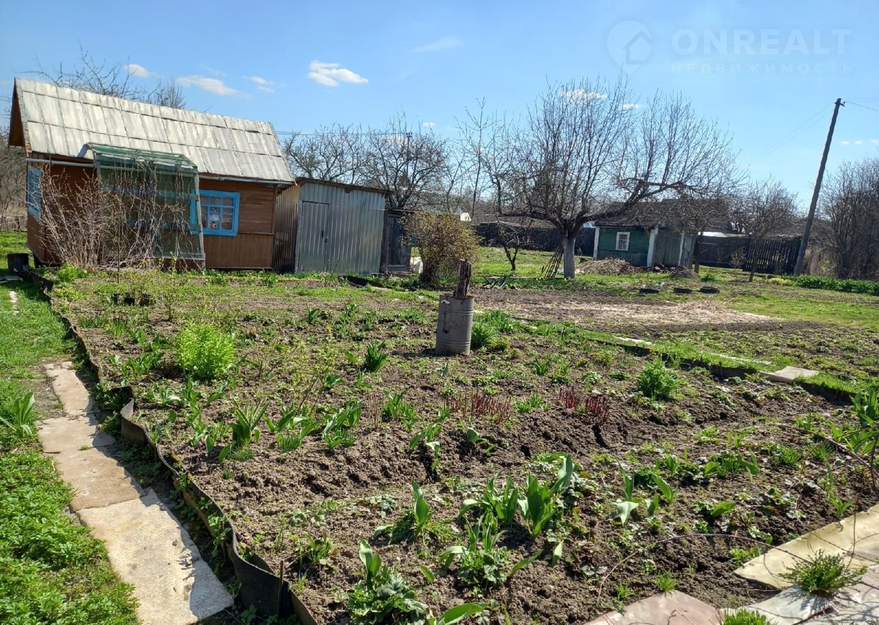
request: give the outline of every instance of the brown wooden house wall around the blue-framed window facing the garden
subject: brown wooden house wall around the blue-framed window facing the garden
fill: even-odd
[[[205,230],[205,265],[210,269],[272,267],[277,185],[199,178],[199,189],[240,193],[238,234],[211,235]]]

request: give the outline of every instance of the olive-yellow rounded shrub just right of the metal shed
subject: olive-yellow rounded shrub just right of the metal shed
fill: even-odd
[[[417,239],[425,283],[439,284],[457,276],[461,258],[476,264],[479,239],[458,215],[416,213],[406,220],[406,229]]]

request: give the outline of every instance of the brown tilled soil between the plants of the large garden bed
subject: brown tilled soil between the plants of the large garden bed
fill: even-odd
[[[540,556],[505,585],[485,593],[497,602],[493,621],[503,622],[504,615],[513,623],[589,621],[622,598],[628,602],[656,592],[655,578],[662,571],[678,580],[679,590],[717,606],[759,597],[761,590],[733,574],[737,563],[730,549],[747,549],[768,537],[778,544],[835,520],[825,492],[830,488],[828,470],[835,476],[839,498],[854,501],[859,509],[875,503],[866,476],[835,453],[818,454],[817,441],[800,429],[803,421],[798,419],[810,413],[845,420],[840,411],[844,404],[810,396],[802,389],[723,381],[696,369],[679,372],[685,385],[677,399],[650,402],[636,393],[643,358],[576,336],[556,336],[539,323],[499,335],[491,350],[439,359],[432,355],[435,302],[415,295],[346,289],[315,290],[309,296],[308,288],[261,294],[253,287],[236,286],[227,287],[226,294],[223,299],[213,291],[203,294],[203,300],[193,297],[181,305],[174,321],[167,321],[158,309],[142,319],[149,332],[171,339],[180,318],[197,310],[203,316],[200,305],[210,300],[221,323],[235,329],[243,358],[231,375],[232,388],[204,407],[205,420],[230,420],[233,403],[265,400],[269,417],[278,418],[284,406],[303,399],[331,410],[357,398],[363,416],[352,429],[353,444],[331,450],[315,434],[301,448],[283,452],[263,428],[263,436],[251,447],[252,457],[244,454],[221,464],[216,450],[207,454],[203,445],[193,447],[186,441],[191,430],[178,418],[160,446],[229,513],[247,549],[276,571],[283,565],[285,576],[317,622],[347,622],[345,594],[362,575],[360,540],[370,541],[437,612],[472,599],[474,592],[455,578],[454,564],[446,573],[437,561],[449,545],[466,541],[464,524],[457,519],[461,503],[478,494],[496,474],[512,476],[519,484],[528,472],[553,476],[554,469],[546,464],[548,454],[570,454],[585,480],[576,511],[555,528],[565,540],[563,558],[551,565],[551,534],[531,538],[519,523],[508,528],[501,541],[511,552],[508,568],[521,558]],[[569,308],[579,312],[570,312],[561,308],[571,294],[549,295],[480,293],[478,306],[507,309],[534,321],[582,321],[578,315],[595,310],[588,308],[589,302],[602,301],[592,294],[577,294]],[[607,310],[614,310],[608,313],[612,316],[625,316],[623,304],[632,304],[614,296],[603,301]],[[356,302],[358,308],[351,323],[340,323],[349,302]],[[88,297],[68,303],[89,351],[108,370],[113,371],[113,354],[124,359],[139,352],[131,338],[113,338],[99,323],[99,315],[123,316],[125,309],[105,310],[98,299]],[[675,308],[659,302],[643,305],[644,311],[650,307]],[[309,308],[322,309],[312,323],[307,319]],[[704,311],[713,305],[695,302],[683,307],[686,313],[680,308],[673,314],[701,315],[704,321]],[[737,313],[724,317],[722,310],[714,312],[730,323],[751,323],[742,322]],[[657,312],[658,317],[663,315]],[[373,339],[388,341],[389,361],[378,373],[364,374],[347,362],[343,352],[361,356]],[[535,363],[546,363],[546,371],[538,373]],[[340,378],[332,389],[312,382],[316,376],[323,380],[326,371]],[[153,383],[168,381],[176,389],[182,386],[171,351],[158,370],[134,381],[137,417],[146,425],[165,421],[167,409],[150,403],[146,391]],[[569,386],[607,396],[607,418],[594,423],[563,408],[559,389]],[[543,406],[473,421],[453,415],[439,434],[439,465],[433,469],[430,456],[418,448],[410,450],[414,432],[379,414],[385,395],[398,392],[403,392],[423,423],[449,397],[470,393],[512,402],[536,394]],[[489,441],[490,453],[467,442],[467,426]],[[803,458],[792,466],[773,464],[771,444],[793,447]],[[636,514],[626,526],[612,518],[614,501],[622,495],[621,467],[634,472],[670,454],[702,466],[709,456],[721,452],[745,458],[754,454],[759,473],[745,471],[710,480],[665,475],[675,498],[660,505],[655,520],[644,517],[646,504],[639,506],[641,516]],[[441,536],[395,544],[374,538],[376,527],[393,523],[410,508],[412,481],[425,491],[435,510],[434,520],[441,521]],[[652,493],[647,484],[639,485],[639,497],[651,498]],[[724,500],[736,502],[736,509],[722,521],[707,520],[696,509],[697,502]],[[332,541],[329,562],[301,562],[301,547],[308,537]],[[435,572],[432,584],[422,566]]]

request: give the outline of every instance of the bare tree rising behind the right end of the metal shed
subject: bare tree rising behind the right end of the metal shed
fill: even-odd
[[[401,210],[418,207],[425,193],[442,188],[446,168],[446,142],[421,127],[411,127],[403,113],[382,132],[367,137],[364,182],[386,191]]]

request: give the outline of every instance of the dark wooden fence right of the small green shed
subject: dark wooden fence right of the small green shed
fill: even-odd
[[[759,273],[794,273],[800,237],[752,241],[749,236],[700,236],[700,265],[734,267]]]

